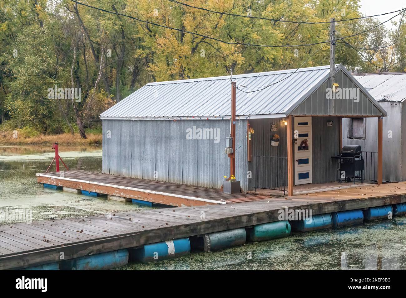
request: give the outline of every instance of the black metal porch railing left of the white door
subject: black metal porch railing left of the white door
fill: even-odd
[[[280,156],[252,156],[251,171],[253,187],[283,191],[287,187],[287,157]]]

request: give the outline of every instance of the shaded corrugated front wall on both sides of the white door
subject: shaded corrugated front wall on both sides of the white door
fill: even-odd
[[[249,189],[279,187],[283,173],[287,183],[287,163],[272,158],[287,157],[287,126],[282,120],[283,118],[250,120],[250,127],[255,130],[255,133],[251,140],[253,161],[248,165],[248,169],[253,174],[253,178],[248,179]],[[329,120],[333,121],[333,126],[327,126]],[[272,124],[276,124],[277,131],[271,131]],[[270,145],[271,137],[275,133],[280,137],[279,146]],[[339,153],[339,119],[312,117],[312,137],[313,184],[336,181],[337,160],[331,157]],[[285,165],[285,171],[283,165]]]

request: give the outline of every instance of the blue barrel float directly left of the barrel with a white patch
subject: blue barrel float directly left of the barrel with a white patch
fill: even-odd
[[[110,270],[120,268],[128,264],[127,249],[98,253],[86,257],[62,261],[61,270]]]

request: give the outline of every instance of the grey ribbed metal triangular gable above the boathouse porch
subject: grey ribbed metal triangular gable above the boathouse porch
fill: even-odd
[[[340,88],[357,88],[354,82],[342,71],[337,73],[335,82]],[[303,101],[290,115],[329,115],[330,99],[326,98],[326,90],[329,88],[328,79]],[[335,99],[335,115],[381,115],[376,106],[359,91],[359,101],[354,99]]]

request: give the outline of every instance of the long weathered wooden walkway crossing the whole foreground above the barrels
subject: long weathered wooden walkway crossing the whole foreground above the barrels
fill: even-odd
[[[406,182],[251,202],[121,212],[0,225],[0,270],[24,268],[144,244],[278,220],[279,210],[312,214],[406,202]],[[202,214],[204,217],[202,218]]]

